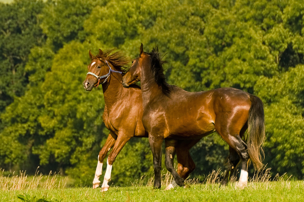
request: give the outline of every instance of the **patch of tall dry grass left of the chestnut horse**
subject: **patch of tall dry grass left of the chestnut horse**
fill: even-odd
[[[39,167],[38,167],[39,168]],[[49,173],[48,176],[43,176],[39,173],[38,168],[34,176],[28,177],[26,171],[20,171],[19,175],[3,176],[4,169],[0,169],[0,190],[32,190],[37,188],[43,189],[60,189],[66,185],[65,178],[63,179],[58,173]]]

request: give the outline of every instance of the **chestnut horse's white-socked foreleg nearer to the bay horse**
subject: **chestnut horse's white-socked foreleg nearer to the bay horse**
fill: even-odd
[[[108,183],[111,180],[112,165],[113,165],[117,155],[122,150],[123,146],[125,146],[127,141],[129,141],[132,137],[133,136],[118,135],[116,143],[108,156],[107,169],[105,171],[105,176],[104,176],[103,183],[101,186],[101,191],[109,190],[110,186],[108,185]]]

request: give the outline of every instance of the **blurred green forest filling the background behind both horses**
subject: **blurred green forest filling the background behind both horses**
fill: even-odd
[[[0,3],[0,168],[33,174],[40,166],[43,173],[69,176],[75,186],[91,186],[109,133],[101,119],[102,88],[82,86],[88,50],[116,47],[135,58],[143,43],[146,51],[158,44],[168,53],[171,84],[188,91],[234,87],[259,96],[264,164],[303,179],[303,36],[302,0]],[[212,134],[191,153],[197,165],[191,177],[199,177],[225,168],[228,147]],[[152,170],[147,138],[133,138],[114,163],[112,182],[130,185]]]

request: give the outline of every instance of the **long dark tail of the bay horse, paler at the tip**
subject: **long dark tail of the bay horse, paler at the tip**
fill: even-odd
[[[265,139],[265,118],[262,100],[257,96],[250,96],[251,106],[248,117],[247,145],[251,161],[256,169],[260,169],[264,151],[262,145]]]

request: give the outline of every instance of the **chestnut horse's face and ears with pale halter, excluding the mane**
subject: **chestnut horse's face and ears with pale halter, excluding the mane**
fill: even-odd
[[[102,50],[99,49],[98,55],[103,55]],[[91,58],[91,63],[88,65],[88,74],[83,82],[83,87],[85,90],[91,91],[93,87],[97,87],[100,83],[105,81],[107,77],[100,77],[109,73],[109,67],[105,61],[101,61],[98,57],[95,57],[91,53],[91,50],[89,50],[89,57]]]

